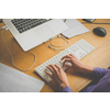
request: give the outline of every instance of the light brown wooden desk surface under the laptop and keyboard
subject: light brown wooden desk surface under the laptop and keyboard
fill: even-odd
[[[78,21],[84,22],[81,19],[79,19]],[[110,19],[97,19],[95,22],[110,23]],[[0,23],[0,28],[2,28],[3,25],[4,25],[3,23]],[[81,62],[92,67],[107,68],[108,66],[110,66],[110,24],[86,23],[84,25],[87,29],[89,29],[89,32],[81,35],[77,35],[68,40],[69,46],[76,43],[77,41],[84,38],[85,41],[87,41],[89,44],[91,44],[95,47],[95,51],[92,51],[90,54],[85,56],[81,59]],[[107,35],[105,37],[97,36],[92,33],[94,28],[97,28],[97,26],[102,26],[106,29]],[[8,47],[10,48],[14,57],[15,65],[18,65],[20,68],[23,68],[23,69],[29,68],[34,61],[33,55],[31,55],[29,52],[26,53],[23,52],[9,31],[6,31],[3,33],[3,36],[7,42]],[[57,40],[57,44],[59,43],[62,44],[63,41]],[[42,63],[46,62],[54,55],[56,55],[57,52],[48,48],[46,43],[33,48],[32,52],[36,55],[36,63],[33,66],[33,68],[29,72],[25,72],[25,74],[42,80],[42,78],[34,72],[34,68],[41,65]],[[8,66],[13,67],[11,63],[11,56],[9,52],[7,51],[1,37],[0,37],[0,62]],[[85,86],[87,86],[91,81],[90,77],[84,76],[81,74],[76,75],[75,73],[72,73],[70,70],[67,72],[67,77],[74,92],[81,90]],[[45,86],[41,90],[41,92],[52,92],[52,91],[57,91],[57,88],[55,87],[54,82],[45,84]]]

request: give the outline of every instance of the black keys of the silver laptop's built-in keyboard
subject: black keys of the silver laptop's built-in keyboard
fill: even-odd
[[[13,19],[11,22],[20,33],[23,33],[30,29],[38,26],[52,19]]]

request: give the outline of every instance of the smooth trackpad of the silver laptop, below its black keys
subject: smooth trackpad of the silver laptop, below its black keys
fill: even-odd
[[[47,25],[36,29],[35,33],[36,33],[37,37],[41,40],[51,38],[53,35],[53,31]]]

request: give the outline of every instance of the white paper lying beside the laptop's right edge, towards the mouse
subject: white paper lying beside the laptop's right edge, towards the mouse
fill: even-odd
[[[62,33],[65,37],[70,38],[73,36],[89,32],[89,30],[76,19],[66,19],[65,23],[69,28]]]

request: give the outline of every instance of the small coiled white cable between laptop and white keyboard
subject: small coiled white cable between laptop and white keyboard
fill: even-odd
[[[59,45],[59,46],[54,45],[54,44],[52,44],[52,41],[53,41],[54,38],[57,38],[57,37],[53,37],[53,38],[51,38],[50,44],[48,44],[48,47],[50,47],[50,48],[53,48],[53,50],[55,50],[55,51],[63,51],[63,50],[65,50],[65,48],[68,46],[69,42],[68,42],[63,35],[59,35],[59,36],[65,41],[65,43],[64,43],[63,45]],[[58,36],[58,37],[59,37],[59,36]],[[65,44],[67,44],[66,47],[64,47],[64,48],[56,48],[56,47],[63,47],[63,46],[65,46]]]

